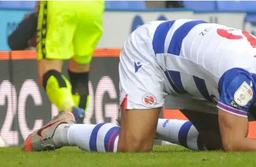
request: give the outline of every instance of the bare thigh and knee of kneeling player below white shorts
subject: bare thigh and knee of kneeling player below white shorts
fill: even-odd
[[[161,108],[148,110],[122,108],[122,124],[117,150],[130,153],[152,151],[160,110]]]

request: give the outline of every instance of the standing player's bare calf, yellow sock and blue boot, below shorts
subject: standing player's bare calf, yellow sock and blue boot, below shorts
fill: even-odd
[[[71,96],[71,85],[66,77],[62,75],[62,60],[38,60],[39,83],[45,88],[49,100],[56,105],[60,111],[73,112],[77,123],[81,124],[85,113],[75,107]]]

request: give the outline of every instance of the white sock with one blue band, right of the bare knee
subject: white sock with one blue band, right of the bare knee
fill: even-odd
[[[158,119],[157,138],[191,150],[205,150],[199,132],[190,121]]]

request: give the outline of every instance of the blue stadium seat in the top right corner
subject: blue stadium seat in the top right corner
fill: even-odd
[[[218,10],[256,11],[256,1],[217,1]]]

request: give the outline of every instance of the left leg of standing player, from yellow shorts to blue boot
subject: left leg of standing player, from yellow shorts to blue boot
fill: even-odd
[[[71,84],[62,74],[63,60],[74,55],[73,38],[77,27],[76,2],[40,1],[38,12],[38,75],[49,100],[60,111],[73,112],[81,124],[85,112],[75,107]],[[68,13],[68,14],[67,14]]]

